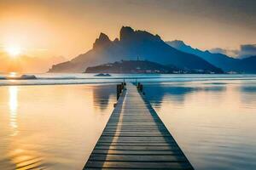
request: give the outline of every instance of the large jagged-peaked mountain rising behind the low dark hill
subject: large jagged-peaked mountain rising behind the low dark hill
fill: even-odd
[[[175,65],[185,70],[222,72],[195,54],[172,48],[158,35],[147,31],[134,31],[129,26],[123,26],[119,32],[119,39],[113,41],[106,34],[101,33],[94,42],[93,48],[87,53],[53,65],[49,72],[82,72],[90,65],[102,65],[122,59],[136,60],[138,57],[161,65]]]

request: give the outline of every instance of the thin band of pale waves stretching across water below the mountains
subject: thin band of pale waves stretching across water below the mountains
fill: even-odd
[[[255,81],[256,75],[113,75],[112,77],[94,77],[92,75],[35,75],[37,79],[1,79],[0,86],[9,85],[61,85],[123,82],[206,82],[224,84],[226,81]],[[214,82],[215,81],[215,82]]]

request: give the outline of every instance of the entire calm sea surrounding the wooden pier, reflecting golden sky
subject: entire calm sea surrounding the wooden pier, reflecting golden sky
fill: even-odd
[[[36,76],[0,80],[0,169],[82,169],[124,77],[144,83],[195,169],[256,167],[256,75]]]

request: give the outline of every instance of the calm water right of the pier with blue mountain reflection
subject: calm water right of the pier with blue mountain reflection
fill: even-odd
[[[155,83],[145,90],[195,169],[256,166],[255,82]]]

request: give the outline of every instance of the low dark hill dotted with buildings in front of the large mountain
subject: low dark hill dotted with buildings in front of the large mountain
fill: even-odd
[[[175,66],[160,65],[147,60],[121,60],[87,67],[86,73],[177,73],[183,72]]]

